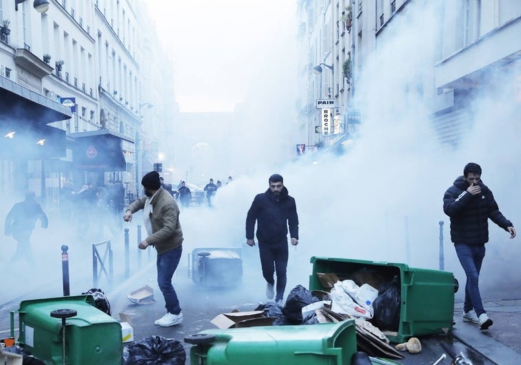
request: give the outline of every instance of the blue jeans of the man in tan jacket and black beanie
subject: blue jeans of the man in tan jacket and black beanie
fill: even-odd
[[[179,314],[181,307],[179,307],[179,300],[172,285],[172,277],[175,269],[181,260],[181,253],[183,247],[179,246],[174,250],[157,255],[157,285],[163,293],[165,298],[165,308],[168,313]]]

